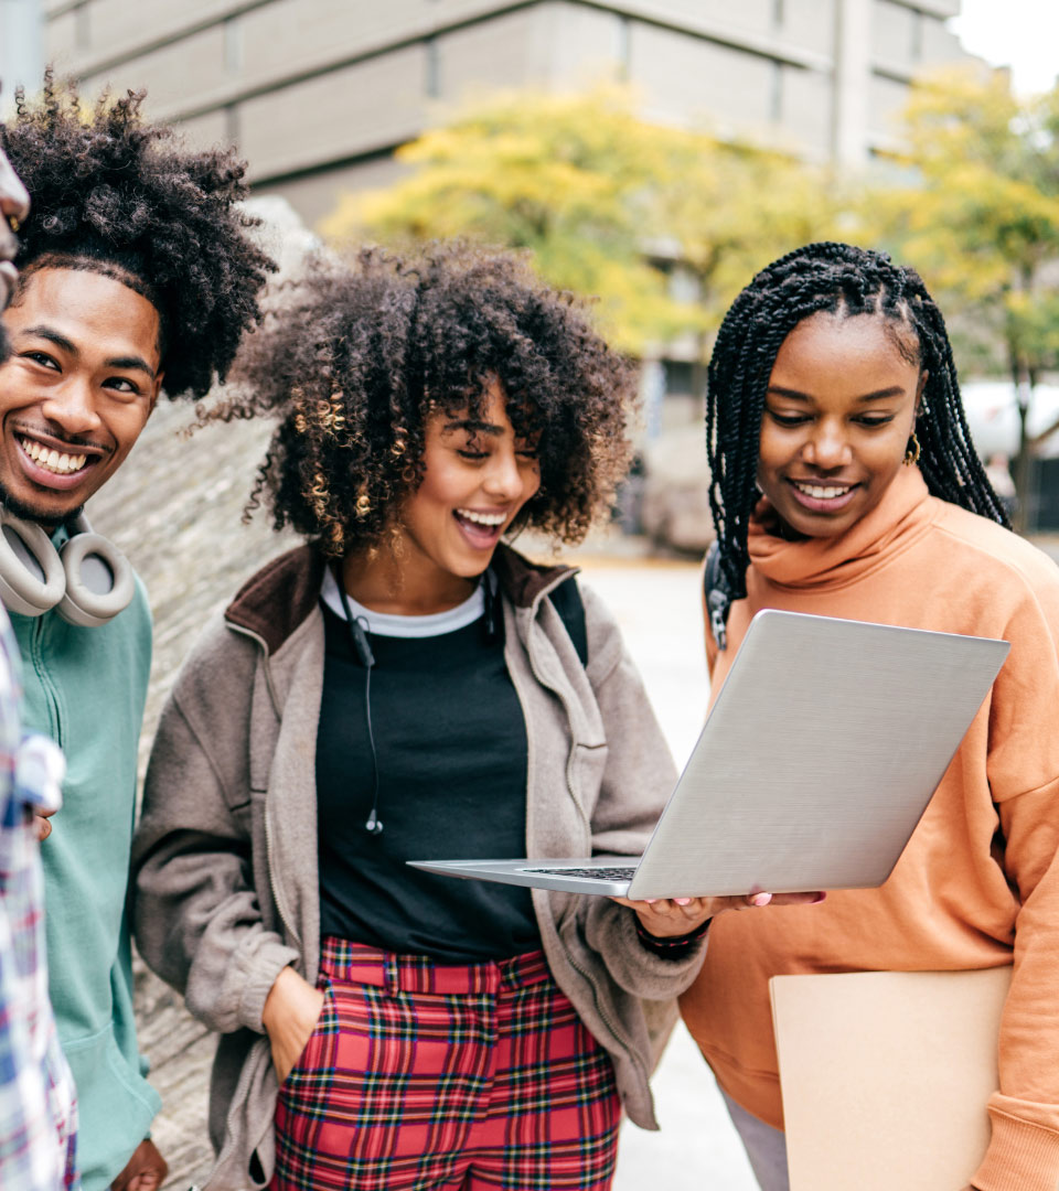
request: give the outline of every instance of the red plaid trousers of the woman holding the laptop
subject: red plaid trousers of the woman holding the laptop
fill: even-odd
[[[613,1066],[540,952],[438,965],[324,940],[272,1191],[606,1191]]]

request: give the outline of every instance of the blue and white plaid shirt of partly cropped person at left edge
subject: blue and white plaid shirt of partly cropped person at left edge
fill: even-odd
[[[48,999],[33,812],[58,809],[62,753],[21,735],[20,659],[0,612],[0,1186],[79,1189],[74,1084]]]

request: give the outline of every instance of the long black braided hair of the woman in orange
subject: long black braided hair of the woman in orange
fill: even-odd
[[[916,420],[927,487],[1009,526],[971,442],[945,319],[920,275],[885,252],[806,244],[762,269],[735,299],[710,358],[706,450],[717,548],[706,597],[718,643],[729,604],[747,594],[747,534],[760,495],[758,445],[772,367],[795,326],[821,311],[842,318],[878,314],[892,325],[897,349],[928,373]]]

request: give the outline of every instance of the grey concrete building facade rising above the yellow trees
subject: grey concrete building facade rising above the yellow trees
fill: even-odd
[[[154,116],[237,143],[310,223],[474,92],[618,77],[648,117],[859,164],[911,76],[963,56],[959,0],[39,2],[50,61],[89,91],[147,86]]]

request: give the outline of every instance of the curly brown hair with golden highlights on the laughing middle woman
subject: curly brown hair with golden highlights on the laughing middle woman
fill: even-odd
[[[204,420],[280,419],[247,515],[266,493],[276,529],[291,525],[331,556],[399,524],[423,479],[428,419],[481,418],[493,379],[541,470],[512,530],[580,541],[611,507],[631,454],[630,362],[524,260],[461,243],[317,262],[248,343],[238,376],[242,395]]]

